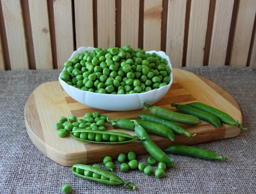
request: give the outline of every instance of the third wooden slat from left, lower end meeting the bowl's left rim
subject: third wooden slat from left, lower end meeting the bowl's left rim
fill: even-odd
[[[71,0],[53,1],[55,39],[58,68],[63,68],[65,61],[74,51],[73,20]]]

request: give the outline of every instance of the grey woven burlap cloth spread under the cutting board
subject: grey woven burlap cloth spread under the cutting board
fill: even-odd
[[[26,133],[24,106],[41,83],[57,80],[60,70],[0,71],[0,193],[62,193],[68,183],[73,194],[82,193],[256,193],[256,68],[184,68],[217,83],[237,101],[243,115],[239,137],[197,145],[230,160],[205,161],[172,155],[177,167],[159,180],[138,170],[114,172],[136,183],[137,191],[75,177],[70,167],[59,165],[39,151]],[[146,163],[149,154],[138,156]],[[101,163],[102,165],[102,163]],[[103,167],[103,166],[102,166]]]

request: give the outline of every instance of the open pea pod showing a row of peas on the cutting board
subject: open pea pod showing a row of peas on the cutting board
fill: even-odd
[[[81,133],[83,133],[82,136]],[[139,140],[137,136],[132,136],[122,132],[98,131],[85,128],[76,128],[70,132],[70,135],[81,141],[103,144],[121,144]]]

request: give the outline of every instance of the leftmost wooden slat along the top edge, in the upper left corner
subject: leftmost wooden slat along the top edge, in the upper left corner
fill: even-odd
[[[12,70],[28,69],[29,63],[20,1],[1,0],[1,2],[9,54],[19,56],[10,57],[11,68]]]

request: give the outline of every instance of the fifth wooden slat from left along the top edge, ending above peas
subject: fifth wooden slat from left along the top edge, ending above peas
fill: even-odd
[[[116,2],[98,0],[98,47],[110,48],[116,45]]]

